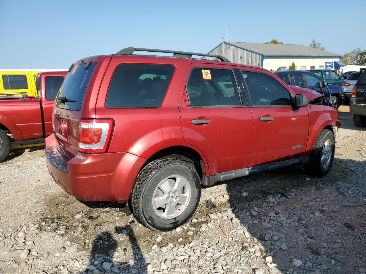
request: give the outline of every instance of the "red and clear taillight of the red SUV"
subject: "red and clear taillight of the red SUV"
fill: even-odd
[[[107,150],[113,121],[110,119],[81,119],[79,124],[79,151],[103,153]]]

